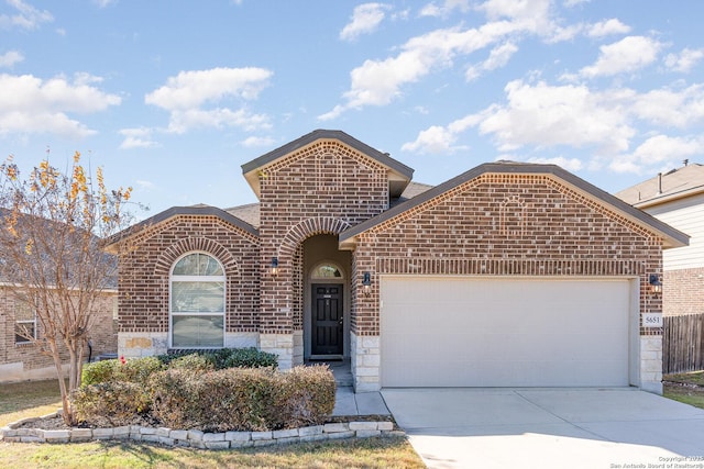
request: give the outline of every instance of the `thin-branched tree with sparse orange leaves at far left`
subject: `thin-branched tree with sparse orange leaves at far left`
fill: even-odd
[[[78,152],[66,172],[43,160],[22,179],[11,157],[0,166],[0,275],[15,302],[36,314],[41,334],[26,338],[53,357],[67,424],[75,423],[68,398],[80,386],[92,311],[116,287],[118,263],[101,239],[130,223],[130,192],[109,191],[100,169],[94,183]]]

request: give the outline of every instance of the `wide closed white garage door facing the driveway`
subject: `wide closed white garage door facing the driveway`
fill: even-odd
[[[383,277],[384,387],[628,386],[628,280]]]

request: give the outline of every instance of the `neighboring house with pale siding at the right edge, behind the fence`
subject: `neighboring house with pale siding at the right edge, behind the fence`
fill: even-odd
[[[691,236],[662,255],[663,314],[704,313],[704,166],[660,174],[616,197]]]

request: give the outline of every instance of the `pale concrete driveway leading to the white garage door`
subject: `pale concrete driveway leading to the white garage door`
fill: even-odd
[[[704,410],[635,389],[382,395],[431,468],[704,468]]]

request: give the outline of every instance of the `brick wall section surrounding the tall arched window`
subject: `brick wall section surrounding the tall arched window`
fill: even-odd
[[[179,215],[146,227],[136,245],[138,249],[120,260],[121,334],[167,337],[170,269],[179,257],[191,252],[207,253],[224,268],[226,333],[258,332],[262,267],[255,236],[213,215]],[[151,348],[152,338],[147,337],[152,336],[140,336],[128,348]],[[121,353],[142,355],[128,349]]]

